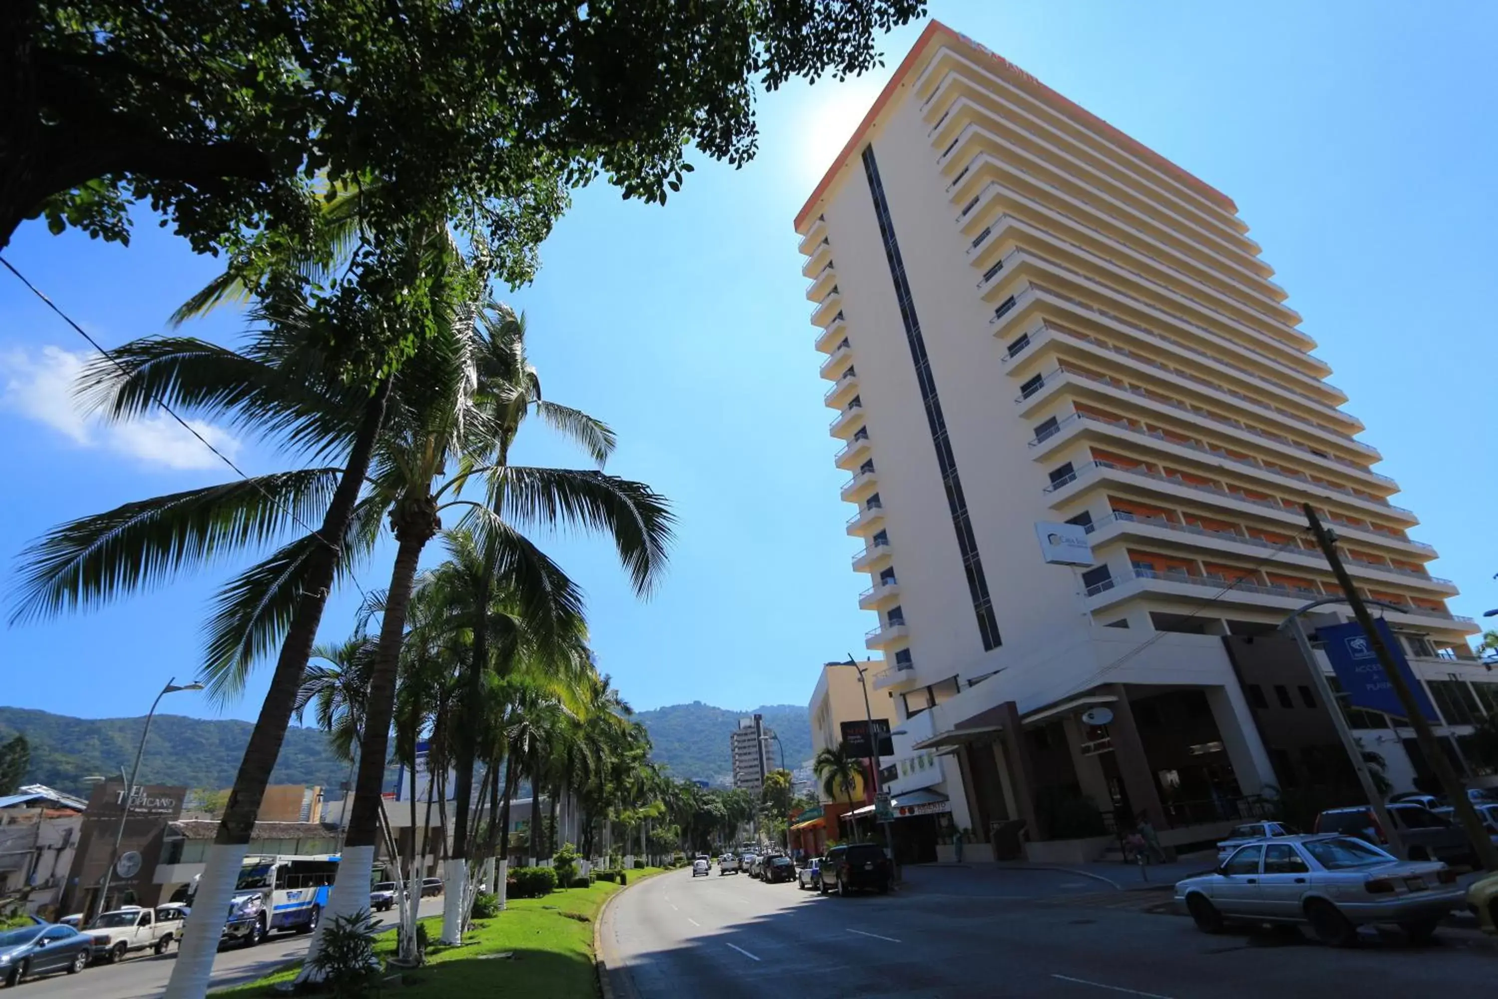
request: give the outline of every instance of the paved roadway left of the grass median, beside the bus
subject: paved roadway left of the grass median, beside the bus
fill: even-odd
[[[422,899],[419,915],[442,915],[442,899]],[[394,912],[377,917],[383,926]],[[259,947],[225,947],[213,962],[213,989],[226,989],[268,975],[307,953],[310,936],[274,933]],[[25,999],[148,999],[160,996],[172,975],[177,948],[162,957],[129,957],[123,965],[94,965],[81,975],[33,978],[21,986]]]

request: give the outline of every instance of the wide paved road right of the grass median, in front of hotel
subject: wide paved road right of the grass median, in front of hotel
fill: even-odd
[[[938,879],[839,899],[682,870],[629,888],[601,930],[623,999],[1326,999],[1348,983],[1378,995],[1471,995],[1498,968],[1498,948],[1473,932],[1443,930],[1425,948],[1390,936],[1336,951],[1284,935],[1207,936],[1149,914],[1150,894],[1026,870],[986,896]]]

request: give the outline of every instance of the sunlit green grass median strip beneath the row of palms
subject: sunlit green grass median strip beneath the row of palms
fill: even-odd
[[[664,869],[631,870],[629,884]],[[463,947],[433,944],[427,963],[391,983],[385,992],[410,999],[454,996],[545,996],[547,999],[593,999],[598,975],[593,969],[593,923],[620,885],[596,881],[589,888],[559,888],[544,899],[514,899],[493,920],[475,920]],[[422,920],[436,941],[442,918]],[[395,953],[395,935],[382,933],[374,951],[380,959]],[[508,954],[508,956],[505,956]],[[217,999],[250,999],[280,995],[274,986],[297,977],[298,966],[244,986],[213,992]]]

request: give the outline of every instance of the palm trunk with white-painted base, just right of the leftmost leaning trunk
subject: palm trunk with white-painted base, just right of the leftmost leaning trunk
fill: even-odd
[[[395,674],[400,664],[400,647],[406,638],[406,611],[410,607],[410,593],[416,583],[421,550],[439,529],[436,502],[430,496],[401,497],[391,514],[391,526],[398,544],[395,565],[389,574],[389,589],[385,593],[379,644],[370,666],[364,738],[360,744],[360,776],[354,791],[354,815],[349,819],[349,834],[339,861],[339,873],[333,882],[333,894],[328,899],[328,912],[324,914],[318,935],[307,948],[309,966],[322,942],[324,927],[339,917],[352,917],[369,908],[370,875],[374,867],[374,843],[379,833],[376,815],[385,786],[385,759],[389,756],[389,723],[395,713]]]

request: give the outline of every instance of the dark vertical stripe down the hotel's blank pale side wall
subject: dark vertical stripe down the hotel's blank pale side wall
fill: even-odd
[[[890,202],[884,198],[879,181],[879,165],[873,159],[873,147],[863,150],[863,171],[869,175],[869,193],[873,195],[873,214],[879,222],[879,237],[884,240],[884,256],[890,261],[890,279],[894,282],[894,300],[900,306],[900,321],[905,324],[905,338],[911,344],[911,361],[915,362],[915,383],[926,406],[926,424],[936,448],[936,464],[947,488],[947,508],[951,509],[951,526],[957,532],[957,548],[962,551],[962,568],[968,577],[968,592],[972,595],[972,611],[978,617],[978,635],[983,650],[998,649],[999,622],[993,617],[993,601],[989,598],[989,581],[983,575],[983,560],[978,557],[978,539],[972,533],[972,518],[968,517],[968,500],[962,494],[962,479],[957,478],[957,457],[951,451],[947,421],[941,415],[941,398],[936,397],[936,377],[926,356],[926,340],[921,337],[921,321],[915,318],[915,300],[911,298],[911,283],[905,279],[905,262],[900,259],[900,244],[894,238],[894,223],[890,220]]]

